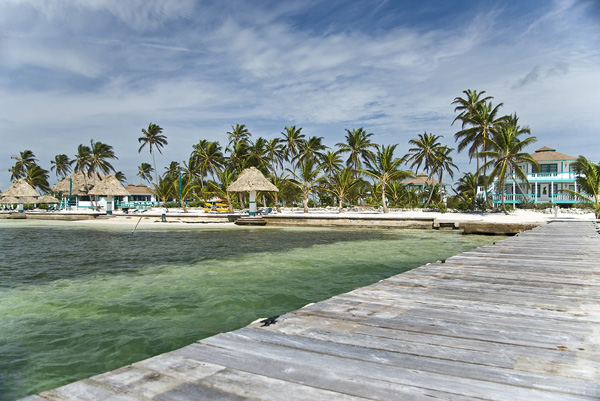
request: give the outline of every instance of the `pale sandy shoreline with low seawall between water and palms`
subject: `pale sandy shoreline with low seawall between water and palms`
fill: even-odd
[[[158,209],[144,213],[112,215],[89,211],[70,212],[1,212],[0,219],[72,221],[86,225],[134,226],[139,228],[181,229],[190,227],[224,227],[246,214],[223,213],[208,214],[190,210],[184,213],[180,209],[171,209],[167,221],[161,222]],[[311,210],[304,213],[301,209],[287,209],[282,213],[263,216],[270,227],[355,227],[355,228],[413,228],[413,229],[460,229],[465,234],[514,235],[553,221],[591,221],[595,216],[591,212],[578,209],[559,209],[558,213],[549,211],[515,210],[505,215],[503,212],[434,212],[423,210],[402,210],[381,213],[375,210],[344,211]]]

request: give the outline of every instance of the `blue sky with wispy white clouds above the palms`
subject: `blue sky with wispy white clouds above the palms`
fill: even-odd
[[[466,89],[517,112],[530,152],[598,160],[599,43],[597,0],[2,0],[0,189],[11,155],[50,169],[90,139],[137,183],[150,122],[169,142],[160,171],[236,123],[267,138],[296,125],[332,147],[359,127],[402,154],[425,131],[455,147]],[[454,159],[459,176],[474,169]]]

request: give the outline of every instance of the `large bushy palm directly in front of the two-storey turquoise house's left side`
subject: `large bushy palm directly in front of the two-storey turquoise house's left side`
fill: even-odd
[[[519,163],[531,163],[534,169],[539,170],[538,162],[533,160],[529,153],[523,152],[526,146],[536,142],[537,139],[533,136],[523,140],[519,139],[519,136],[529,134],[530,131],[528,127],[519,127],[516,124],[517,120],[515,116],[510,120],[510,123],[500,124],[500,127],[494,130],[493,137],[488,138],[486,141],[488,150],[481,152],[483,157],[491,159],[481,166],[481,168],[485,170],[488,167],[492,167],[490,178],[498,179],[497,186],[500,188],[502,195],[502,210],[504,214],[508,214],[504,202],[506,178],[510,177],[514,181],[520,179],[529,185],[527,175],[523,172]]]

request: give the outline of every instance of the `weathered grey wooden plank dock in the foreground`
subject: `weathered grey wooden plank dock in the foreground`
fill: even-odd
[[[557,222],[27,401],[598,400],[600,236]]]

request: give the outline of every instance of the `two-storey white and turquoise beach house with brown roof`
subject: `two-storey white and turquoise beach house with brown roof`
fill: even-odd
[[[577,160],[576,157],[544,146],[536,150],[531,158],[539,163],[539,171],[535,171],[531,163],[520,165],[527,175],[528,183],[509,175],[505,181],[505,203],[518,204],[525,201],[559,205],[578,203],[578,200],[572,195],[561,191],[563,189],[579,191],[575,181],[577,175],[572,168],[572,164]],[[493,202],[495,204],[502,203],[498,180],[494,181],[490,190]]]

